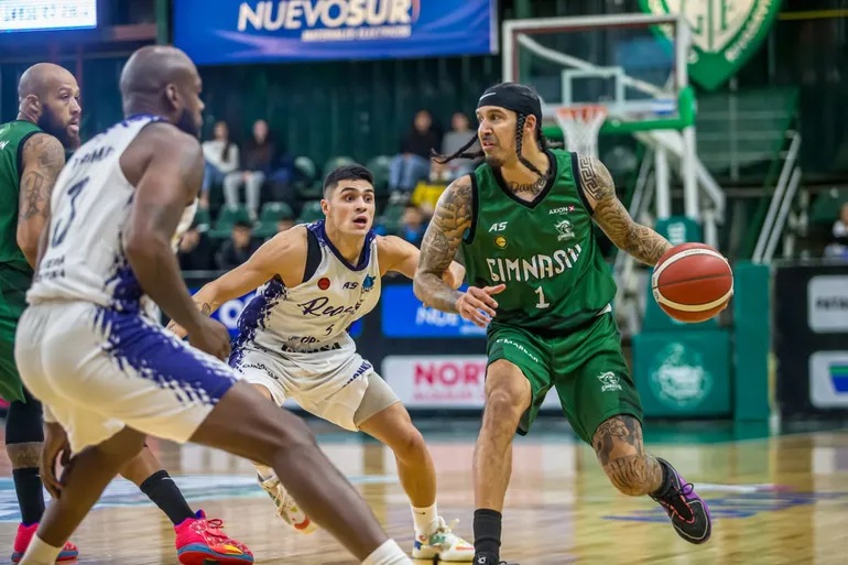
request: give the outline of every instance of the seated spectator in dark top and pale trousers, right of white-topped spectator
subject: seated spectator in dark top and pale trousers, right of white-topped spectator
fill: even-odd
[[[271,174],[276,148],[271,139],[265,120],[253,122],[253,135],[244,143],[241,166],[224,178],[224,199],[228,207],[239,206],[239,188],[244,186],[244,199],[250,219],[259,214],[260,193],[265,178]]]

